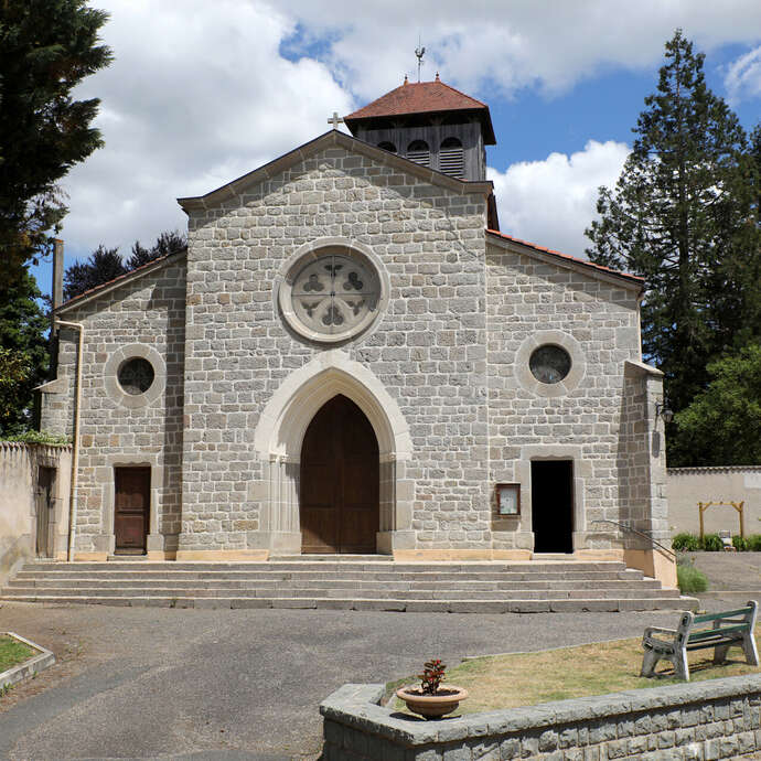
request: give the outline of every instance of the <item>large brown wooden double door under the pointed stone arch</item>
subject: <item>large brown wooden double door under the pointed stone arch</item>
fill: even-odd
[[[318,410],[301,446],[301,551],[375,553],[379,481],[373,426],[339,394]]]

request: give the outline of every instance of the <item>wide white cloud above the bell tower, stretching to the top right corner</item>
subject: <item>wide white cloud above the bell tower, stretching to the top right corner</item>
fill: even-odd
[[[567,90],[603,67],[657,64],[677,26],[701,50],[761,39],[758,0],[280,0],[278,8],[314,34],[330,33],[324,55],[361,98],[416,76],[418,33],[424,78],[441,77],[482,96],[523,87]]]

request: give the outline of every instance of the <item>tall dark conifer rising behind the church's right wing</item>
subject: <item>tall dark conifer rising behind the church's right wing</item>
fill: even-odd
[[[706,86],[704,55],[677,30],[665,57],[623,172],[613,190],[600,189],[587,254],[645,277],[644,353],[679,410],[705,388],[711,357],[761,331],[759,228],[747,137]],[[678,428],[668,432],[677,464]]]

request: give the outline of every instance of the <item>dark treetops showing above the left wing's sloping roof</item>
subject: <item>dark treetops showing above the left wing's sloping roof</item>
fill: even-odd
[[[179,231],[164,232],[159,235],[150,248],[144,248],[139,240],[132,245],[132,255],[125,261],[117,248],[106,248],[103,244],[86,261],[76,261],[64,274],[64,299],[73,299],[90,288],[114,280],[138,267],[150,264],[170,254],[176,254],[187,247],[185,236]]]

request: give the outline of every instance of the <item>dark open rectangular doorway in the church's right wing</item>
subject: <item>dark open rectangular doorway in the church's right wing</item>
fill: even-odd
[[[532,530],[535,553],[574,551],[574,462],[532,462]]]

